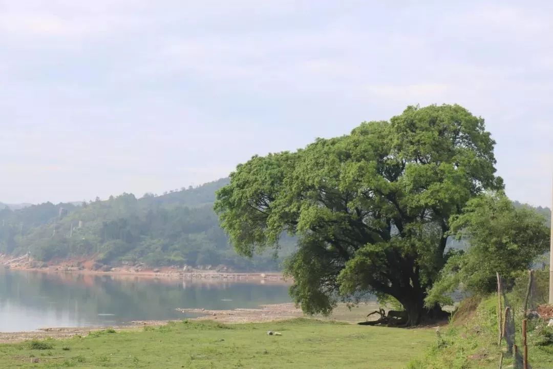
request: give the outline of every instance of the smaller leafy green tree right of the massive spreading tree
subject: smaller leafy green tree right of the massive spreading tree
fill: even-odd
[[[470,200],[462,214],[453,216],[451,233],[470,246],[464,253],[452,253],[427,304],[448,303],[446,294],[460,286],[472,293],[492,292],[496,272],[512,285],[517,273],[529,269],[549,248],[544,218],[527,207],[515,207],[503,193]]]

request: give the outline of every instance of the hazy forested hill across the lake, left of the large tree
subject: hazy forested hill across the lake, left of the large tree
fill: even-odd
[[[122,194],[106,201],[0,210],[0,253],[30,252],[41,261],[89,258],[102,264],[226,266],[237,271],[276,270],[273,254],[240,257],[213,212],[220,179],[197,188],[137,199]],[[293,242],[286,238],[280,256]]]

